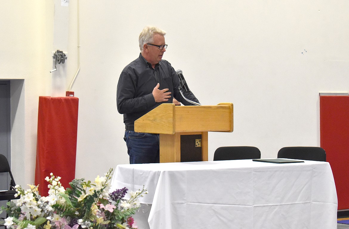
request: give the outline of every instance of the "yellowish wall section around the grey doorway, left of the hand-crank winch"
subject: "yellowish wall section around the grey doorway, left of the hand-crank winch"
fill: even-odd
[[[52,6],[43,2],[0,1],[0,79],[15,79],[11,81],[12,169],[20,184],[34,182],[38,96],[50,93],[45,69],[50,63],[46,54],[52,42],[47,31],[52,27]]]

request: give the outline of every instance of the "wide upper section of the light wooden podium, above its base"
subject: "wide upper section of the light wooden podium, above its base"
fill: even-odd
[[[175,106],[163,103],[134,122],[136,132],[174,134],[176,132],[232,132],[233,104]]]

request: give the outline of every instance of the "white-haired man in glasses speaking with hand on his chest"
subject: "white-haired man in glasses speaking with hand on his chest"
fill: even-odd
[[[191,105],[180,94],[176,71],[163,60],[166,32],[146,26],[139,35],[139,57],[122,70],[117,86],[118,112],[124,114],[125,137],[130,164],[159,163],[159,134],[134,132],[134,121],[173,98]],[[199,103],[191,91],[185,97]]]

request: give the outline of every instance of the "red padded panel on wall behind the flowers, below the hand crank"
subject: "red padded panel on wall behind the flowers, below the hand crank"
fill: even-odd
[[[35,184],[47,196],[45,177],[60,176],[63,187],[75,179],[79,98],[39,97]]]

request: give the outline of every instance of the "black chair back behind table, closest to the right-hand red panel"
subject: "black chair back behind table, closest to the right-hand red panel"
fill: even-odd
[[[326,152],[321,147],[283,147],[277,153],[277,158],[326,161]]]

